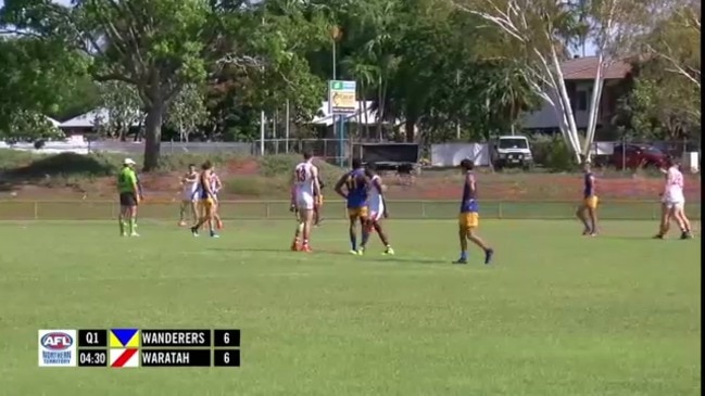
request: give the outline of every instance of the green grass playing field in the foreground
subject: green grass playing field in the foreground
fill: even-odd
[[[394,257],[291,226],[0,223],[0,395],[700,395],[697,240],[494,220],[495,264],[452,266],[452,221],[390,221]],[[38,329],[114,327],[240,328],[242,367],[37,368]]]

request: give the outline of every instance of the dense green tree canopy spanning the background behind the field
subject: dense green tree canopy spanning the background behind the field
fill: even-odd
[[[46,133],[17,131],[32,124],[17,117],[103,106],[112,115],[106,136],[125,139],[130,125],[141,126],[150,170],[164,139],[256,139],[261,112],[273,117],[287,106],[304,133],[335,71],[356,80],[358,100],[379,114],[353,130],[356,139],[483,140],[520,129],[521,113],[547,103],[579,157],[582,131],[559,64],[586,40],[597,47],[601,71],[640,60],[642,75],[625,99],[631,127],[677,136],[700,125],[700,2],[666,3],[5,0],[0,135]],[[675,105],[695,95],[697,106]],[[403,127],[389,128],[393,120]]]

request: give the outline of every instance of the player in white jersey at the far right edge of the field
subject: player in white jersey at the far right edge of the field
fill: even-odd
[[[656,234],[657,239],[664,239],[670,221],[676,220],[681,230],[681,239],[692,238],[690,220],[685,216],[685,194],[683,193],[683,174],[679,169],[679,163],[669,158],[668,169],[662,169],[666,175],[666,183],[662,193],[662,216],[660,227]]]

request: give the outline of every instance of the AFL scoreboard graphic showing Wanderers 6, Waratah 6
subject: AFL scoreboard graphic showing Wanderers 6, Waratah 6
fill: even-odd
[[[240,330],[39,330],[39,367],[240,367]]]

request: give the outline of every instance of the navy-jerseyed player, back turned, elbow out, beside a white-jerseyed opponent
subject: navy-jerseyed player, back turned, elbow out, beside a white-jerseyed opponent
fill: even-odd
[[[342,190],[343,187],[345,188],[344,192]],[[363,255],[365,253],[364,246],[367,245],[367,240],[369,239],[369,230],[367,228],[367,192],[369,190],[369,180],[365,175],[365,169],[360,158],[353,158],[352,170],[338,180],[335,190],[338,195],[345,200],[348,206],[348,217],[350,218],[350,253]],[[360,222],[362,229],[362,243],[360,248],[357,247],[357,232],[355,230],[357,222]]]

